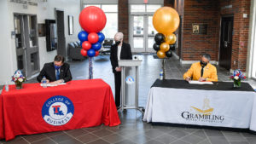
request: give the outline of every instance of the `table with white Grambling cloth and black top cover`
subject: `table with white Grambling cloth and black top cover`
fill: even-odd
[[[143,121],[256,130],[255,96],[247,83],[233,88],[232,82],[200,85],[157,79]]]

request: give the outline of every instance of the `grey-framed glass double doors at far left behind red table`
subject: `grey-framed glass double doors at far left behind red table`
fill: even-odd
[[[17,69],[26,78],[40,71],[37,15],[14,14]]]

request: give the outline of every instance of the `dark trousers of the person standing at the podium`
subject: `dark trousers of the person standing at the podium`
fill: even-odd
[[[115,106],[120,106],[121,97],[121,72],[114,72]]]

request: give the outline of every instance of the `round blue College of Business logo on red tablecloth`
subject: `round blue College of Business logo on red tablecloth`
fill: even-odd
[[[55,126],[67,124],[73,117],[73,112],[73,102],[61,95],[50,97],[42,108],[44,121]]]

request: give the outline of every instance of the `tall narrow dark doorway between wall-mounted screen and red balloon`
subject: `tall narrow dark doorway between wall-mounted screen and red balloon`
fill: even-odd
[[[65,26],[64,26],[64,11],[61,9],[55,9],[55,17],[56,17],[56,23],[57,23],[57,36],[58,36],[57,55],[62,55],[67,57]]]

